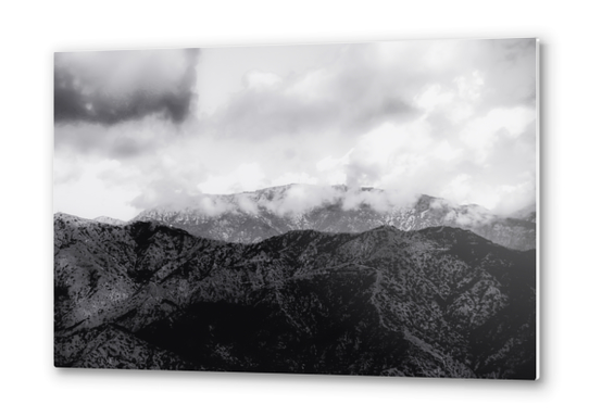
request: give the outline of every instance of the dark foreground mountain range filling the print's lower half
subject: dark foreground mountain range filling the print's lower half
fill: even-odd
[[[58,214],[54,362],[534,379],[535,258],[451,227],[242,244]]]

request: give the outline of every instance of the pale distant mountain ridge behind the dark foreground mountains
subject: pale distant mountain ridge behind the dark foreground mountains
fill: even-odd
[[[190,207],[147,210],[134,220],[155,220],[196,236],[239,243],[259,242],[290,230],[360,232],[383,225],[401,230],[450,226],[511,249],[529,250],[536,248],[532,215],[535,222],[535,207],[525,216],[512,218],[494,215],[479,205],[455,205],[429,195],[399,205],[374,188],[290,185],[238,194],[202,195]]]

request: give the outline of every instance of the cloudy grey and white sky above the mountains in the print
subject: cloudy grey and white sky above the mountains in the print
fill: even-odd
[[[54,211],[292,182],[535,202],[536,41],[57,53]]]

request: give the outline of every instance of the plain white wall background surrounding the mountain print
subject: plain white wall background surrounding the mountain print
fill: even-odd
[[[581,415],[587,412],[582,2],[4,2],[0,24],[0,414]],[[539,37],[543,54],[542,374],[538,382],[52,367],[52,53],[58,50]],[[7,232],[8,231],[8,232]]]

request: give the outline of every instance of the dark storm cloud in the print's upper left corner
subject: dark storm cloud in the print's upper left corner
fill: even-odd
[[[114,125],[161,114],[180,123],[196,99],[198,52],[57,53],[54,121]]]

